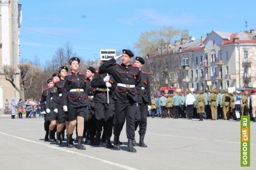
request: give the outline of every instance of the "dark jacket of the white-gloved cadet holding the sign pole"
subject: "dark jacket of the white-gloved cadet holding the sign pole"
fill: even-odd
[[[93,80],[91,82],[91,85],[93,88],[96,88],[96,91],[94,93],[93,102],[95,103],[101,103],[101,104],[107,104],[108,98],[107,98],[107,91],[106,90],[106,82],[103,81],[104,77],[106,77],[106,73],[97,70],[94,73]],[[111,88],[109,88],[109,104],[113,103],[113,91],[116,88],[115,80],[112,75],[109,74],[109,83],[111,84]],[[97,88],[103,89],[103,91],[98,91]]]

